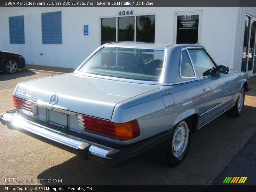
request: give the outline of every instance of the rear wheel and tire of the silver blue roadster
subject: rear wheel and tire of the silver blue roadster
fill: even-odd
[[[170,139],[156,149],[154,153],[156,162],[169,167],[180,164],[188,152],[191,130],[190,119],[178,123],[172,130]]]

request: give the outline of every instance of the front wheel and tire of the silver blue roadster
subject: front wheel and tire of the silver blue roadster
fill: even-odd
[[[229,116],[239,117],[242,114],[243,108],[244,108],[244,95],[245,95],[245,89],[243,87],[236,100],[236,104],[227,111]]]

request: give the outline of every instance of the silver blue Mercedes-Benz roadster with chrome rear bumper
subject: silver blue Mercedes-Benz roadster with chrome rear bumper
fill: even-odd
[[[191,133],[241,115],[249,82],[200,45],[108,43],[74,73],[18,84],[0,120],[86,160],[117,166],[151,150],[176,166]]]

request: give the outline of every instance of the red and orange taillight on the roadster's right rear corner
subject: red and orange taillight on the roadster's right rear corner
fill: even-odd
[[[89,116],[78,115],[80,130],[116,140],[130,140],[140,135],[137,120],[126,123],[111,121]]]

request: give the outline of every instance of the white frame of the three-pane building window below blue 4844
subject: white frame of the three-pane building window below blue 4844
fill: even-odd
[[[116,18],[116,42],[118,42],[118,18],[119,17],[134,17],[134,42],[136,42],[137,38],[137,16],[147,16],[147,15],[155,15],[155,37],[154,43],[156,42],[156,13],[144,13],[144,14],[132,14],[132,15],[116,15],[116,16],[104,16],[100,17],[100,45],[101,44],[101,19],[105,18]]]

